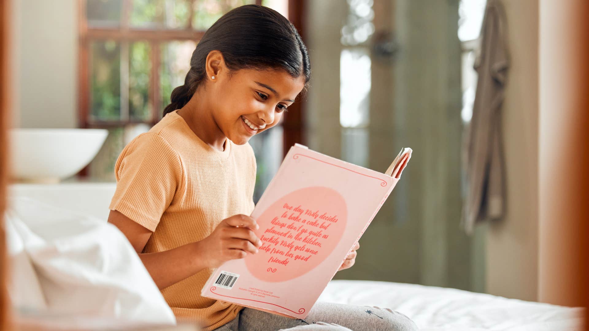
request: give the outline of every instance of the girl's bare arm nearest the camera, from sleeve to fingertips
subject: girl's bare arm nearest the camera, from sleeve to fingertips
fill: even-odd
[[[160,290],[208,267],[218,267],[230,259],[241,259],[247,253],[255,254],[256,247],[262,246],[262,241],[250,230],[258,227],[256,221],[243,214],[224,219],[203,240],[158,253],[141,253],[151,231],[120,211],[111,210],[108,222],[127,237]]]

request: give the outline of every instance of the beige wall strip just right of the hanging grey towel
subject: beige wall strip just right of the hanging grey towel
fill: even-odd
[[[538,2],[503,1],[510,65],[503,104],[507,215],[487,231],[487,292],[537,300]]]

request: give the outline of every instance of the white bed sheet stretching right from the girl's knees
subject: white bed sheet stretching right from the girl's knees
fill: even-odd
[[[507,299],[444,287],[332,280],[320,301],[390,308],[422,331],[581,331],[582,308]]]

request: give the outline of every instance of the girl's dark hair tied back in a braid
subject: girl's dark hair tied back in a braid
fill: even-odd
[[[294,78],[305,75],[303,95],[309,88],[309,54],[294,25],[274,9],[243,5],[217,19],[200,39],[184,85],[172,91],[164,116],[188,103],[205,78],[205,61],[213,50],[223,54],[230,75],[239,69],[283,69]]]

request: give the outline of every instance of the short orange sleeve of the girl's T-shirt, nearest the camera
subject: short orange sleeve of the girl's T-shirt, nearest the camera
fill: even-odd
[[[180,155],[160,135],[143,133],[124,148],[114,171],[117,188],[109,208],[155,231],[182,183]]]

